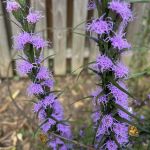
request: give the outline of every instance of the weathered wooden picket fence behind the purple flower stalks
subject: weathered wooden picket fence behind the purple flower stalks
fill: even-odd
[[[96,45],[84,36],[73,32],[87,34],[83,23],[76,30],[72,30],[78,24],[88,20],[94,14],[86,11],[88,0],[30,0],[30,6],[40,10],[45,16],[36,27],[45,39],[51,40],[52,49],[45,50],[45,56],[56,54],[47,60],[45,65],[51,67],[56,75],[65,75],[81,65],[85,61],[93,61],[97,54]],[[8,16],[5,4],[0,2],[0,76],[6,77],[8,66],[14,57],[11,37],[19,32],[18,27],[8,20],[15,19]],[[135,6],[137,7],[137,6]],[[139,6],[138,6],[139,7]],[[142,10],[144,4],[140,4]],[[142,16],[140,16],[142,17]],[[138,29],[136,29],[137,31]],[[135,31],[135,32],[136,32]],[[129,36],[132,38],[131,36]],[[9,76],[14,75],[14,63],[9,66]]]

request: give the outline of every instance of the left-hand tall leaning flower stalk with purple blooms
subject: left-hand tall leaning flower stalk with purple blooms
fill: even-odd
[[[64,120],[63,107],[53,90],[52,72],[43,66],[43,50],[50,43],[34,32],[43,16],[26,6],[25,0],[7,0],[6,10],[21,25],[21,32],[13,36],[13,48],[22,54],[17,61],[17,72],[31,80],[27,94],[36,97],[33,110],[38,116],[41,131],[47,136],[46,143],[54,150],[66,150],[67,145],[62,139],[71,139],[70,125]]]

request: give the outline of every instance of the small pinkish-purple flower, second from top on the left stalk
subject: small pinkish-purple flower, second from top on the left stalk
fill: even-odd
[[[28,23],[35,24],[42,18],[42,15],[39,11],[30,11],[27,15]]]

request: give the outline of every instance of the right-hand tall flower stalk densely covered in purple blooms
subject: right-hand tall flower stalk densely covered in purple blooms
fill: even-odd
[[[134,17],[130,4],[122,0],[90,1],[88,9],[95,8],[98,18],[86,25],[87,31],[97,34],[92,39],[97,42],[100,53],[90,67],[99,77],[97,89],[91,94],[95,131],[93,145],[97,150],[117,150],[125,148],[129,142],[128,123],[131,118],[125,85],[129,70],[121,56],[131,48],[125,39],[125,29]]]

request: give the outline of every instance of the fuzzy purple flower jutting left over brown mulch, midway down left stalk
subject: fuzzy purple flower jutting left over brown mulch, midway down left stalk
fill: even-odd
[[[40,84],[31,83],[27,88],[27,93],[29,96],[38,95],[44,93],[43,88]]]

